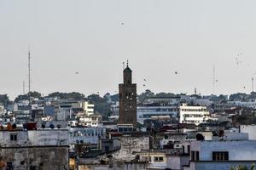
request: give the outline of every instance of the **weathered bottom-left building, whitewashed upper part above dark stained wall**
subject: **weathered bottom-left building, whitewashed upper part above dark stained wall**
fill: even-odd
[[[0,145],[0,169],[68,169],[67,129],[4,129]]]

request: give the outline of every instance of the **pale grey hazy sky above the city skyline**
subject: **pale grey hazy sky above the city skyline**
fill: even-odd
[[[146,88],[212,94],[213,65],[215,94],[250,93],[255,6],[253,0],[0,0],[0,94],[14,99],[23,82],[27,92],[29,48],[32,91],[44,95],[116,94],[127,59],[138,94]]]

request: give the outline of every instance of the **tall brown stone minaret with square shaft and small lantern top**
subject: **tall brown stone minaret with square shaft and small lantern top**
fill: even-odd
[[[137,126],[137,84],[132,83],[128,61],[124,70],[124,83],[119,84],[119,124]]]

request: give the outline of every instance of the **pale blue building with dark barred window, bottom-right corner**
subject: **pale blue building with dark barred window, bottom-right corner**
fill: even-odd
[[[255,140],[192,141],[190,150],[189,165],[183,170],[227,170],[256,162]]]

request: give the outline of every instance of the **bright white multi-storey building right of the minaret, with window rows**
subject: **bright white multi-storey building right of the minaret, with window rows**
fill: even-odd
[[[210,118],[210,113],[206,106],[189,106],[183,104],[179,106],[179,122],[180,123],[195,123],[206,122]]]

